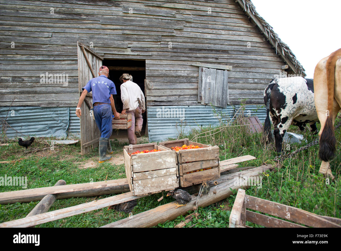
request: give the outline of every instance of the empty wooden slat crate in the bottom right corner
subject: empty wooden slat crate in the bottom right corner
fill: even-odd
[[[247,208],[282,219],[249,211]],[[245,224],[246,221],[265,227],[341,227],[339,218],[316,215],[296,207],[246,195],[245,190],[238,189],[229,218],[229,227],[250,227]]]

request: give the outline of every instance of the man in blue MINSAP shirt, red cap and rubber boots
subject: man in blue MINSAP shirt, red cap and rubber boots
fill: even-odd
[[[116,111],[113,94],[116,94],[114,82],[108,79],[109,69],[106,66],[101,66],[98,77],[92,78],[82,88],[83,92],[80,95],[79,102],[76,108],[76,115],[81,116],[80,106],[83,103],[88,92],[92,91],[93,114],[96,124],[101,131],[99,143],[99,163],[111,160],[111,156],[106,155],[113,153],[110,145],[109,137],[113,132],[113,114],[115,119],[120,119],[120,114]]]

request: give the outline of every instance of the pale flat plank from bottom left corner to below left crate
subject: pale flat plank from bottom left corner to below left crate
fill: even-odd
[[[39,215],[33,215],[13,221],[6,221],[0,223],[0,227],[30,227],[39,225],[42,223],[55,221],[59,219],[63,219],[66,217],[70,217],[73,215],[79,215],[81,213],[90,212],[92,210],[97,210],[100,208],[117,205],[123,202],[132,201],[137,198],[141,198],[144,196],[134,196],[131,192],[122,193],[119,195],[107,197],[97,201],[91,201],[83,204],[79,204],[72,207],[66,207],[46,213],[40,213]]]

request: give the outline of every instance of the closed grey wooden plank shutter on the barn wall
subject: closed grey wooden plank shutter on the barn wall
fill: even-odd
[[[228,72],[199,67],[198,102],[226,108],[228,104]]]

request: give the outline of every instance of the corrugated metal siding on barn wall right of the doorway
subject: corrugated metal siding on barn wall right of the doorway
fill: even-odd
[[[202,126],[217,126],[220,122],[231,120],[240,105],[228,105],[226,108],[204,105],[183,106],[149,106],[148,107],[148,135],[149,142],[163,141],[167,138],[176,138],[180,132],[188,133],[192,128]],[[183,109],[183,110],[180,110]],[[169,109],[169,110],[166,110]],[[169,117],[171,109],[179,109],[180,113]],[[168,113],[167,113],[168,111]],[[182,116],[182,112],[184,113]],[[238,112],[239,113],[239,112]],[[246,105],[244,113],[258,116],[261,122],[265,121],[266,109],[262,105]],[[173,115],[175,113],[173,112]],[[185,125],[181,129],[180,125]]]

